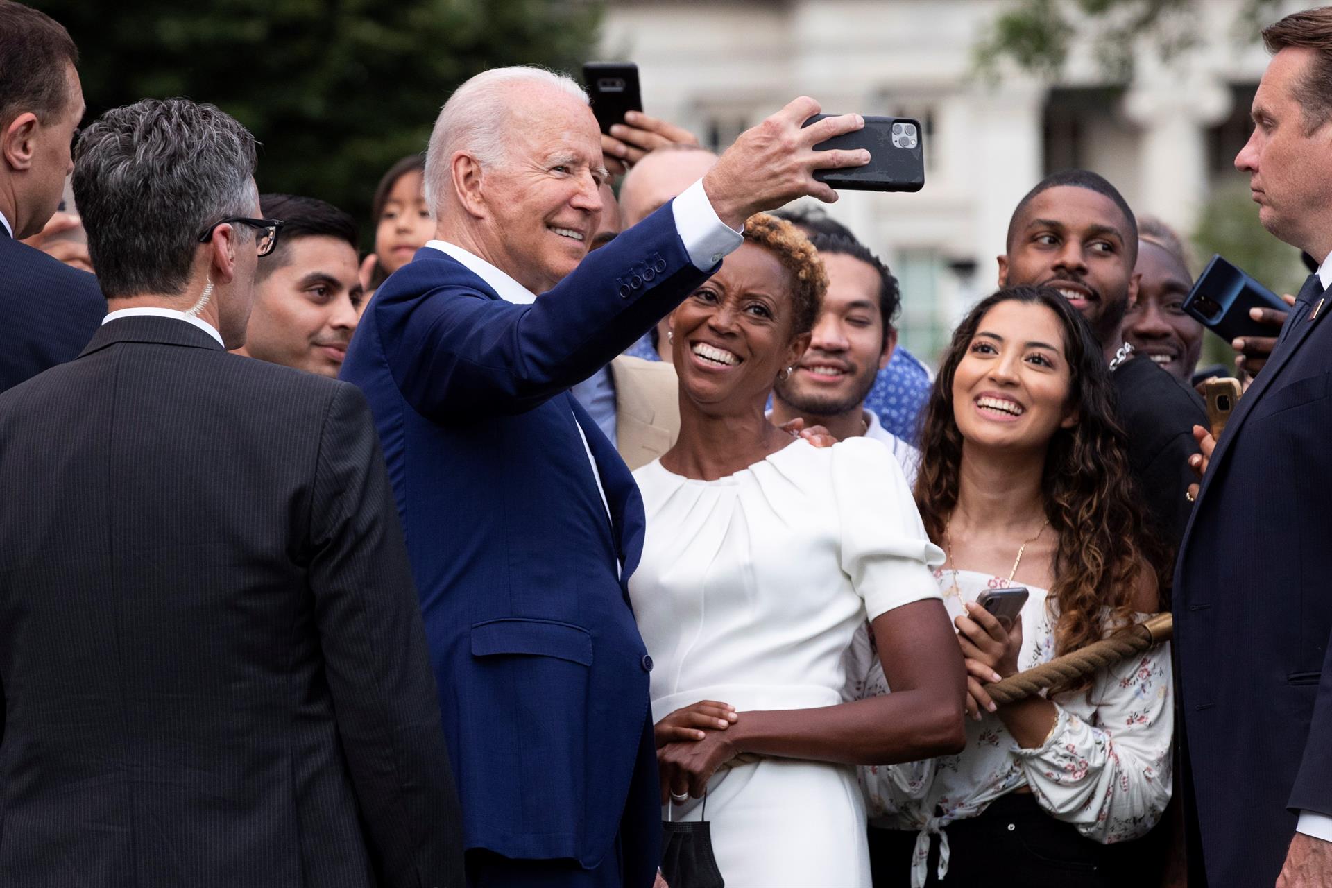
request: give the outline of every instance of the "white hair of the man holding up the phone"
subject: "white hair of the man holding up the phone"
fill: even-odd
[[[432,214],[438,212],[438,198],[449,188],[449,158],[466,150],[482,165],[502,164],[505,132],[509,124],[506,96],[509,87],[527,83],[553,87],[587,103],[587,93],[573,77],[531,65],[492,68],[469,79],[444,103],[430,132],[425,153],[425,202]]]

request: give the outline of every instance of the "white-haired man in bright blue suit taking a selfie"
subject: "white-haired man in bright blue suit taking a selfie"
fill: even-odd
[[[473,888],[653,883],[653,663],[625,586],[643,506],[569,387],[715,272],[749,216],[836,200],[814,170],[868,152],[813,146],[863,120],[802,129],[818,111],[797,99],[591,253],[606,170],[573,80],[489,71],[440,112],[437,240],[380,288],[342,378],[370,399],[405,522]]]

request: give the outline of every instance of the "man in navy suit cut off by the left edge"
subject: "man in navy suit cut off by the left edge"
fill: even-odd
[[[56,212],[73,168],[69,142],[84,112],[77,61],[64,28],[0,3],[0,391],[72,359],[107,313],[92,274],[17,240]]]

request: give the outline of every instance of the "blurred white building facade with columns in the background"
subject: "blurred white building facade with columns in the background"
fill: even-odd
[[[1144,44],[1127,85],[1087,48],[1054,84],[982,79],[975,45],[1012,1],[610,0],[601,57],[637,63],[645,111],[718,149],[802,93],[920,120],[922,192],[843,192],[827,212],[892,268],[902,342],[932,363],[994,289],[1008,217],[1047,173],[1094,169],[1187,237],[1209,190],[1241,178],[1231,161],[1268,61],[1256,33],[1236,37],[1244,0],[1196,0],[1196,45],[1162,61]]]

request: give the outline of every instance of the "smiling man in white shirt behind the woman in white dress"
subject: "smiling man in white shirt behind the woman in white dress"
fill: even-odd
[[[920,454],[883,427],[864,398],[898,345],[892,316],[900,304],[898,280],[863,244],[844,234],[810,238],[829,276],[814,338],[801,362],[773,389],[773,422],[805,419],[834,438],[883,442],[910,483]]]

